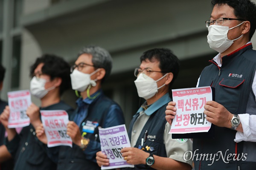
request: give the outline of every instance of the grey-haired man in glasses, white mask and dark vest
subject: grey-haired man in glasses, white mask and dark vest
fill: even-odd
[[[99,127],[125,124],[121,108],[103,94],[102,82],[110,75],[112,59],[98,46],[85,46],[71,68],[73,90],[80,98],[78,108],[67,125],[73,148],[60,146],[58,170],[100,170],[96,152],[100,150]]]

